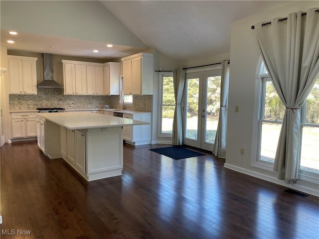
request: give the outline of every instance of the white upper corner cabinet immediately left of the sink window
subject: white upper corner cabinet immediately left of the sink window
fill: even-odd
[[[105,95],[120,95],[120,67],[119,62],[104,64],[104,93]]]

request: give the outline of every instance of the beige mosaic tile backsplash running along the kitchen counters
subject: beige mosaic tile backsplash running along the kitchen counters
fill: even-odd
[[[9,95],[9,110],[35,110],[36,108],[59,107],[66,110],[102,109],[104,105],[110,108],[122,109],[119,96],[69,96],[63,94],[63,89],[38,88],[37,95]],[[153,96],[134,96],[133,106],[128,110],[152,112]]]

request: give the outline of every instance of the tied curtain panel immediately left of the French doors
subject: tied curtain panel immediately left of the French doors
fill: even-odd
[[[185,85],[185,71],[182,68],[173,70],[173,84],[175,95],[175,112],[173,119],[172,145],[182,145],[183,125],[180,103],[183,97]]]

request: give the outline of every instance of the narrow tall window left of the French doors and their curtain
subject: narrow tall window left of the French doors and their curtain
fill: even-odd
[[[160,73],[159,136],[171,136],[175,111],[172,73]]]

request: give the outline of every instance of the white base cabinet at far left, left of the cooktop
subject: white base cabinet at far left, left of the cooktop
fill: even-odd
[[[37,136],[35,113],[12,113],[11,122],[12,138]]]

